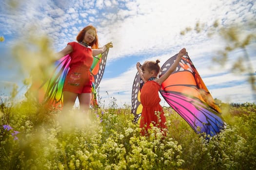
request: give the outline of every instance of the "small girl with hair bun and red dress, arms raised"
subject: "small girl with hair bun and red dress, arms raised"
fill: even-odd
[[[177,68],[181,57],[185,54],[186,49],[181,49],[173,65],[160,78],[158,78],[158,73],[160,71],[160,67],[158,65],[160,62],[159,60],[156,62],[146,61],[142,66],[140,63],[137,63],[138,73],[145,83],[142,86],[140,93],[140,102],[143,106],[139,126],[141,128],[141,135],[147,134],[151,123],[153,126],[157,126],[162,130],[167,129],[165,125],[166,119],[164,117],[164,112],[159,103],[160,98],[158,91],[160,90],[160,85]],[[165,133],[163,132],[163,134]]]

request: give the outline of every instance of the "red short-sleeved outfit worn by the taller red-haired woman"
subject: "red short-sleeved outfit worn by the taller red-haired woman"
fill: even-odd
[[[90,68],[93,64],[92,49],[77,42],[68,43],[73,51],[69,54],[71,62],[66,76],[63,91],[72,93],[91,93],[92,76]]]

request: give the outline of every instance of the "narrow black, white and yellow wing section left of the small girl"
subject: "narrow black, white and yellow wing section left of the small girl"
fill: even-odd
[[[133,82],[132,89],[132,114],[134,115],[134,122],[140,123],[140,116],[142,112],[142,104],[140,103],[140,90],[144,85],[143,80],[140,78],[140,75],[136,74]]]

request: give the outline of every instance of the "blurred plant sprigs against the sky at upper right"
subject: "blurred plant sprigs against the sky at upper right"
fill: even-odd
[[[213,57],[212,60],[222,67],[230,61],[230,59],[228,58],[229,52],[241,49],[243,51],[243,55],[238,57],[238,59],[232,63],[232,71],[235,73],[248,74],[248,82],[251,85],[254,100],[256,100],[255,70],[253,70],[253,63],[251,62],[250,56],[247,52],[247,46],[253,43],[255,44],[256,42],[255,28],[255,21],[248,22],[243,25],[234,24],[225,27],[218,24],[217,21],[215,21],[210,27],[206,27],[205,24],[200,24],[199,22],[197,22],[194,29],[188,27],[185,30],[181,31],[180,34],[185,35],[193,30],[195,30],[197,34],[206,30],[209,37],[214,34],[219,34],[220,37],[226,42],[226,46],[222,51],[219,51],[220,55],[217,57]]]

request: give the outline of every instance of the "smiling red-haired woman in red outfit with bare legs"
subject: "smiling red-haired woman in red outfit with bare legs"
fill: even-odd
[[[77,97],[81,111],[87,111],[90,108],[92,87],[90,68],[93,64],[93,56],[113,47],[110,42],[98,48],[97,30],[91,25],[79,32],[77,41],[69,42],[58,53],[59,58],[67,54],[71,57],[70,69],[63,87],[63,111],[72,109]]]

